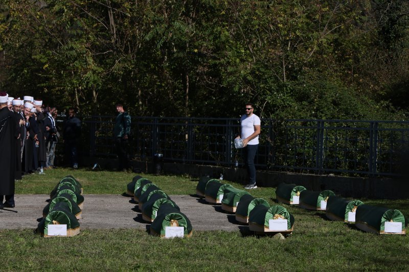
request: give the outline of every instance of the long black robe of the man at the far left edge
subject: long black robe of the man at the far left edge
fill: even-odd
[[[0,110],[0,195],[14,194],[17,121],[7,107]]]

